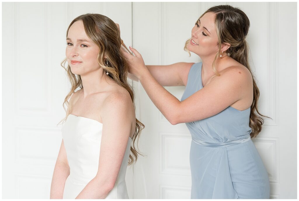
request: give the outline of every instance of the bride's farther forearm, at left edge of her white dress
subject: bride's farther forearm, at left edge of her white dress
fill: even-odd
[[[67,164],[56,162],[51,182],[50,199],[62,199],[65,181],[70,174]]]

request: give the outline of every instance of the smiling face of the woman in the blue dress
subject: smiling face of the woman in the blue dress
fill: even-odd
[[[205,13],[192,28],[187,49],[202,56],[215,56],[218,51],[218,36],[215,28],[215,13]]]

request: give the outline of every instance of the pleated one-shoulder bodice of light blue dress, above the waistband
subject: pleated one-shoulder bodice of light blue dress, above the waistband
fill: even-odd
[[[192,65],[181,101],[203,88],[201,71],[201,62]],[[209,143],[228,142],[249,137],[248,135],[251,133],[249,116],[250,107],[240,111],[229,106],[216,115],[199,121],[188,122],[186,125],[194,140]]]

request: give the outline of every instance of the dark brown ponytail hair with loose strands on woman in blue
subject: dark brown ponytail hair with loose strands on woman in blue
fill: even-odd
[[[251,68],[248,62],[248,44],[245,40],[250,26],[250,22],[247,15],[239,8],[235,8],[230,5],[214,6],[209,8],[207,11],[205,11],[205,13],[208,12],[213,12],[216,14],[215,27],[218,36],[219,50],[215,55],[212,64],[212,69],[216,74],[216,76],[220,76],[220,74],[218,73],[215,67],[215,60],[220,55],[220,49],[222,43],[231,44],[230,48],[228,48],[228,50],[226,51],[228,55],[234,60],[236,60],[237,62],[241,63],[246,68],[248,68],[248,70],[252,75]],[[205,13],[203,13],[199,17],[199,19],[202,16],[204,16]],[[184,50],[188,52],[189,56],[190,56],[190,51],[187,49],[187,45],[190,43],[190,40],[191,38],[186,41],[184,47]],[[260,114],[260,112],[257,109],[257,100],[259,99],[260,91],[257,87],[253,75],[252,75],[252,79],[253,79],[253,102],[251,104],[249,127],[251,127],[252,129],[250,133],[251,138],[255,138],[261,132],[262,125],[264,123],[264,119],[261,116],[263,117],[267,117],[267,116]],[[255,113],[255,111],[257,112],[257,114]]]

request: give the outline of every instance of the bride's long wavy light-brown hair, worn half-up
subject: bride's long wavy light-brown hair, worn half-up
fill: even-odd
[[[123,54],[121,53],[120,50],[122,45],[121,44],[122,40],[120,39],[120,32],[117,26],[110,18],[106,16],[100,14],[94,14],[94,13],[87,13],[76,17],[71,22],[71,24],[68,26],[68,29],[66,31],[66,37],[68,36],[68,30],[71,27],[71,25],[74,24],[74,22],[80,20],[83,21],[86,35],[89,37],[89,39],[92,40],[92,42],[94,42],[99,47],[99,54],[97,55],[97,61],[99,66],[102,67],[104,71],[107,71],[109,73],[109,75],[107,76],[109,76],[112,80],[114,80],[115,83],[122,86],[129,92],[132,102],[134,103],[134,92],[127,80],[128,65],[125,57],[123,57]],[[104,56],[106,58],[104,58]],[[81,76],[80,75],[76,76],[75,74],[73,74],[71,72],[71,68],[69,65],[67,66],[67,68],[65,68],[66,61],[67,59],[65,58],[60,63],[60,65],[65,69],[65,71],[68,74],[68,78],[71,82],[71,91],[65,97],[64,103],[62,104],[66,112],[65,118],[61,120],[63,121],[62,123],[66,121],[68,115],[72,111],[68,99],[71,97],[71,95],[75,92],[75,90],[78,87],[80,87],[81,89],[83,88]],[[135,105],[134,105],[134,109],[135,109]],[[136,147],[137,149],[135,148],[135,140],[138,137],[137,138],[137,144],[138,144],[140,133],[143,128],[144,128],[144,124],[142,124],[136,118],[136,128],[135,128],[135,133],[132,137],[133,143],[131,145],[131,153],[129,156],[128,165],[131,165],[133,162],[136,162],[138,158],[138,154],[144,156],[137,150],[138,145]]]

